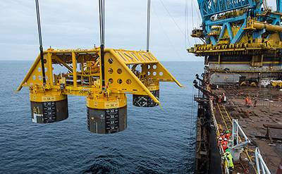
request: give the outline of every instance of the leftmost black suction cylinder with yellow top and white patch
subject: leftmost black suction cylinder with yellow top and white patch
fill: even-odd
[[[68,118],[68,97],[56,91],[30,92],[33,123],[54,123]]]

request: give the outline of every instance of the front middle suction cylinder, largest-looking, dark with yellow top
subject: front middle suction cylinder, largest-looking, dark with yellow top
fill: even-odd
[[[111,134],[127,128],[127,99],[125,94],[94,99],[87,97],[87,126],[90,132]]]

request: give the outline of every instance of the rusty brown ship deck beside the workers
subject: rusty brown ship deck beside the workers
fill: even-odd
[[[266,132],[269,125],[282,126],[282,91],[258,87],[219,87],[212,89],[212,92],[218,96],[225,93],[227,97],[226,104],[212,104],[218,128],[232,130],[232,119],[238,119],[241,128],[251,139],[251,144],[240,156],[241,162],[235,164],[235,172],[246,173],[249,170],[255,173],[254,150],[259,147],[269,170],[276,173],[282,157],[282,130],[269,128],[272,141]],[[245,105],[247,96],[252,99],[251,106]]]

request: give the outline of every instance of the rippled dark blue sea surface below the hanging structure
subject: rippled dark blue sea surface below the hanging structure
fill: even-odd
[[[68,97],[67,120],[32,123],[28,89],[14,92],[32,61],[0,61],[0,173],[192,173],[192,81],[202,62],[163,64],[185,88],[162,82],[163,108],[137,108],[128,95],[128,129],[97,135],[87,130],[85,97]]]

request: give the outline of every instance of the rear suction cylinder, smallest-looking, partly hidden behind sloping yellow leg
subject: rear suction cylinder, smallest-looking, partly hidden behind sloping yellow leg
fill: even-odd
[[[159,100],[159,84],[147,86],[149,91]],[[154,107],[158,106],[151,97],[147,95],[133,94],[133,105],[137,107]]]

